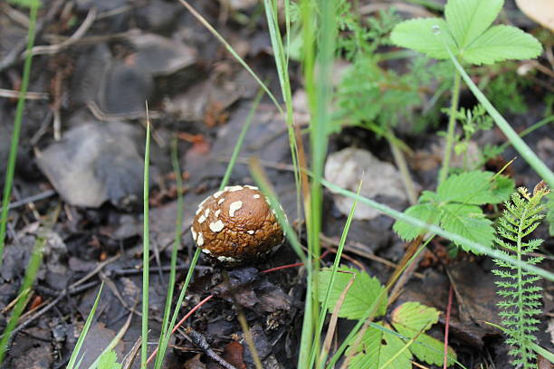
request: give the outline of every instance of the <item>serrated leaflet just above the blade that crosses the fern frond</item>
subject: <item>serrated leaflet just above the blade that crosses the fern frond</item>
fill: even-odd
[[[444,205],[442,209],[444,216],[441,220],[441,226],[444,230],[459,234],[484,246],[492,246],[492,240],[494,240],[492,222],[484,217],[479,206],[449,203]],[[455,243],[462,246],[464,251],[473,251],[463,243]]]

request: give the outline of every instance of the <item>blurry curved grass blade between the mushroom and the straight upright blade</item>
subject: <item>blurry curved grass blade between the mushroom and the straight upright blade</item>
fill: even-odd
[[[175,173],[175,181],[177,184],[177,221],[175,224],[175,239],[173,241],[173,249],[171,251],[171,269],[169,270],[169,280],[167,282],[166,307],[164,308],[162,330],[158,341],[158,351],[160,351],[162,345],[166,345],[163,347],[164,353],[167,349],[167,341],[164,340],[164,337],[167,336],[168,332],[171,332],[172,328],[169,326],[169,317],[171,317],[171,304],[173,302],[173,292],[175,290],[175,279],[177,276],[177,250],[181,243],[181,236],[183,234],[183,178],[181,177],[181,168],[179,166],[177,137],[175,137],[171,143],[171,163],[173,165],[173,172]],[[161,368],[163,361],[163,355],[156,355],[154,368]]]

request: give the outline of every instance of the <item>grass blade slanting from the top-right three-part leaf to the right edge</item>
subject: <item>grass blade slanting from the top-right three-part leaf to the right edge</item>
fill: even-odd
[[[501,116],[501,113],[492,106],[491,101],[487,99],[484,94],[479,90],[479,88],[473,83],[473,80],[470,76],[463,70],[462,65],[456,60],[454,54],[450,51],[448,47],[445,47],[450,59],[454,63],[454,67],[460,73],[463,78],[463,81],[467,84],[470,90],[472,90],[475,98],[481,103],[484,109],[487,110],[489,115],[494,119],[494,122],[501,129],[501,131],[508,137],[511,142],[511,145],[520,153],[520,155],[525,159],[525,161],[539,174],[550,187],[554,187],[554,173],[549,169],[548,166],[540,160],[540,157],[537,156],[533,150],[521,139],[516,131],[511,128],[510,124]]]

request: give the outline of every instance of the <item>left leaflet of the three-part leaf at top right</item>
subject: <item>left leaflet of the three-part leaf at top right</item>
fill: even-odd
[[[396,24],[390,33],[390,40],[398,46],[423,52],[435,59],[448,59],[448,52],[440,36],[434,33],[434,27],[439,27],[445,43],[457,53],[454,39],[448,32],[448,26],[441,18],[421,18]]]

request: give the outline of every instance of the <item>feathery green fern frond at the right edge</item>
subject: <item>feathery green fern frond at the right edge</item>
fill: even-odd
[[[544,218],[544,206],[540,199],[548,194],[546,187],[533,191],[521,187],[511,195],[510,201],[504,203],[505,210],[498,221],[495,243],[502,253],[518,260],[535,265],[544,258],[531,256],[530,253],[540,248],[542,240],[523,239],[530,235]],[[495,281],[496,293],[502,298],[497,303],[501,312],[501,324],[505,327],[506,344],[513,348],[509,354],[514,356],[511,364],[524,369],[536,368],[535,353],[531,344],[537,340],[533,332],[540,323],[537,315],[541,313],[542,288],[537,285],[540,277],[528,271],[514,267],[502,260],[494,260],[499,269],[492,273],[499,277]]]

